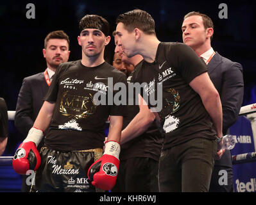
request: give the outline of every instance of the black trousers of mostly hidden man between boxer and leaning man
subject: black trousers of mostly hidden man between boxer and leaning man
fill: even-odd
[[[158,161],[151,158],[121,160],[112,192],[158,192]]]

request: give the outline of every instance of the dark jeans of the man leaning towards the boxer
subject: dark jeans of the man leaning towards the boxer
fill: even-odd
[[[160,192],[208,192],[217,153],[216,140],[194,138],[162,150],[159,161]]]

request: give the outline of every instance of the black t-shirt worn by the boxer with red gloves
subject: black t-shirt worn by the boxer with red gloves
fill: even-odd
[[[126,115],[126,106],[113,100],[117,82],[126,85],[126,76],[107,62],[97,67],[85,67],[81,60],[62,63],[45,97],[56,102],[46,146],[60,151],[103,147],[108,116]]]

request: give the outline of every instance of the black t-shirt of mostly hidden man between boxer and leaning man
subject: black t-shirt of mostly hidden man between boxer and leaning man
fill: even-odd
[[[139,81],[138,76],[141,70],[142,61],[135,66],[133,72],[128,76],[127,83],[136,83]],[[131,91],[131,90],[130,90]],[[133,92],[134,95],[135,92]],[[139,106],[135,96],[133,98],[133,104],[127,106],[127,116],[123,119],[123,129],[128,126],[132,119],[139,113]],[[132,102],[132,101],[131,101]],[[120,160],[126,160],[134,157],[148,157],[158,161],[160,156],[160,150],[162,146],[163,137],[158,131],[157,126],[153,124],[148,130],[140,136],[130,140],[129,142],[121,145]]]

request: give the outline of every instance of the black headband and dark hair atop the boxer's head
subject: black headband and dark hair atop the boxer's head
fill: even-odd
[[[99,15],[85,15],[79,22],[80,33],[86,28],[99,29],[106,37],[110,31],[108,21]]]

